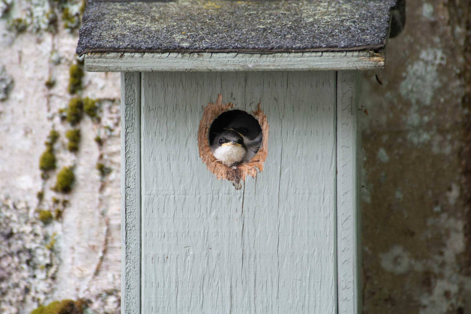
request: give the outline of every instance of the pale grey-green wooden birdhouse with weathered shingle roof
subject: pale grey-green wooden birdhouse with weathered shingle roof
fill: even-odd
[[[89,2],[77,53],[122,72],[122,313],[361,313],[358,74],[395,6]]]

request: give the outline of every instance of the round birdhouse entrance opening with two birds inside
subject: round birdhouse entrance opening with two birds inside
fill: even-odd
[[[242,110],[221,113],[209,131],[211,151],[228,167],[250,161],[262,143],[262,129],[251,114]]]

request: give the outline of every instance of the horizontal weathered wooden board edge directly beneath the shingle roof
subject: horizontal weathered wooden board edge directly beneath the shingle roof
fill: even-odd
[[[374,70],[383,52],[250,53],[88,53],[90,72]],[[215,99],[212,100],[213,102]]]

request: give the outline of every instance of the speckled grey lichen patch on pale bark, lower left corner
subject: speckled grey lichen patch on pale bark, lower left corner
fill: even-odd
[[[51,235],[24,201],[0,202],[0,313],[20,313],[43,302],[54,287],[59,258],[48,250]]]

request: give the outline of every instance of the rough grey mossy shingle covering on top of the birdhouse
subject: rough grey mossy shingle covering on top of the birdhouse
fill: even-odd
[[[90,1],[78,55],[385,48],[396,0]]]

